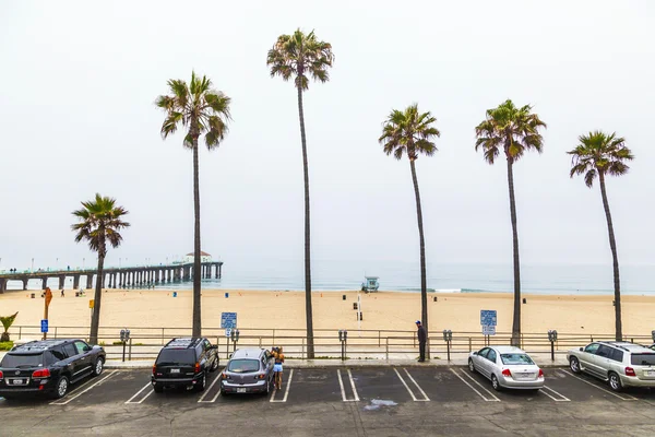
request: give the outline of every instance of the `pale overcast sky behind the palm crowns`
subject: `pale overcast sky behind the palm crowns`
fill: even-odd
[[[297,95],[265,62],[298,27],[335,54],[305,95],[317,262],[418,262],[409,163],[377,141],[413,103],[441,131],[417,161],[429,262],[511,262],[505,163],[474,150],[485,111],[511,98],[548,123],[544,153],[514,168],[522,262],[611,262],[599,189],[569,177],[565,154],[602,129],[635,155],[608,181],[620,262],[655,264],[653,22],[650,1],[3,1],[0,268],[95,260],[70,225],[96,192],[130,211],[108,264],[192,250],[192,154],[160,138],[154,105],[192,70],[233,99],[228,135],[200,153],[203,250],[302,259]]]

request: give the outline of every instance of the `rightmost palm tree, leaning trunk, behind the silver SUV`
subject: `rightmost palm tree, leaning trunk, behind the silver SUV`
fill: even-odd
[[[615,280],[615,324],[616,340],[623,340],[623,327],[621,322],[621,282],[619,280],[619,257],[617,255],[617,241],[614,235],[614,225],[611,223],[611,213],[609,212],[609,202],[605,189],[605,176],[621,176],[628,173],[630,167],[627,161],[632,161],[634,156],[630,149],[626,146],[626,139],[617,137],[617,133],[606,134],[602,131],[590,132],[586,135],[577,138],[580,144],[570,152],[572,155],[572,167],[570,176],[584,175],[584,182],[592,188],[596,176],[600,181],[600,196],[603,206],[605,208],[605,217],[607,218],[607,231],[609,232],[609,247],[611,248],[611,258],[614,261]]]

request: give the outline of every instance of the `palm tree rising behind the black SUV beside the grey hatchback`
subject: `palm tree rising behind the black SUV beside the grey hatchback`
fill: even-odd
[[[230,98],[212,87],[212,81],[206,76],[199,78],[191,73],[191,82],[169,80],[169,95],[160,95],[155,104],[166,111],[162,125],[162,138],[175,133],[180,125],[187,129],[183,146],[193,152],[193,317],[192,335],[200,336],[202,331],[200,309],[200,187],[198,168],[198,139],[205,135],[207,149],[218,147],[227,133],[227,121],[230,119]]]

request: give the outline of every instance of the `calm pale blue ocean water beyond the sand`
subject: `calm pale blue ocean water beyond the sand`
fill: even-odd
[[[221,280],[203,280],[203,290],[305,290],[302,260],[223,260]],[[623,294],[655,296],[655,265],[622,265]],[[365,275],[379,276],[381,291],[418,292],[418,262],[312,260],[312,288],[315,291],[358,290]],[[511,264],[445,264],[428,263],[428,288],[434,293],[512,293]],[[521,288],[526,294],[612,294],[611,264],[524,264],[521,267]],[[72,286],[67,280],[66,287]],[[12,282],[8,288],[20,288]],[[57,290],[57,280],[48,282]],[[82,277],[84,286],[84,277]],[[156,288],[190,290],[192,283],[178,282]],[[28,288],[40,288],[40,281],[29,281]]]

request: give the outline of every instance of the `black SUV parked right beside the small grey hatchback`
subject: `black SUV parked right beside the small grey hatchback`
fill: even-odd
[[[218,346],[204,338],[172,339],[157,355],[153,365],[152,382],[155,392],[164,387],[186,387],[203,391],[207,371],[218,368]]]

